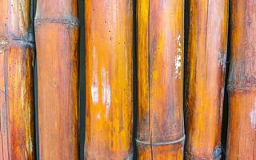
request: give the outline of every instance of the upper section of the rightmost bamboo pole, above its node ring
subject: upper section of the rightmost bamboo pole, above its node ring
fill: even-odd
[[[229,90],[256,90],[256,11],[249,7],[253,3],[232,2]]]

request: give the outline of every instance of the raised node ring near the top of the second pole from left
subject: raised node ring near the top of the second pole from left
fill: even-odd
[[[35,25],[40,23],[62,23],[71,26],[79,26],[79,22],[76,18],[37,18],[34,20]]]

